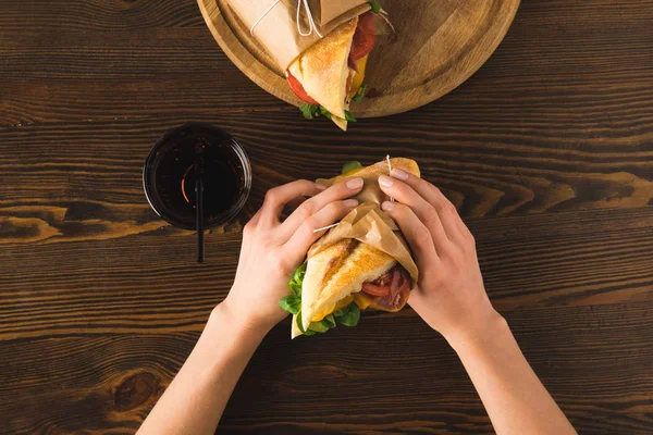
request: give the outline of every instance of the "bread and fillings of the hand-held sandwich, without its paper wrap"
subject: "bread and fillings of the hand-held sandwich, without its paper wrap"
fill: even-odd
[[[392,167],[416,176],[420,174],[412,160],[397,158],[391,161]],[[386,174],[387,167],[385,162],[380,162],[348,171],[331,182],[356,176],[362,177],[368,186],[375,184],[381,174]],[[411,259],[410,262],[414,264]],[[416,266],[410,269],[417,273]],[[293,338],[313,335],[337,324],[355,326],[361,310],[399,311],[408,300],[416,276],[411,276],[394,257],[358,239],[343,238],[310,257],[295,272],[288,284],[293,295],[283,298],[280,307],[294,314]]]

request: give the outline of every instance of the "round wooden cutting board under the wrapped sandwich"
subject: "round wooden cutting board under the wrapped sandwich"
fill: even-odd
[[[249,35],[226,0],[197,0],[226,55],[268,92],[299,105],[283,71]],[[358,117],[385,116],[427,104],[469,78],[508,30],[519,0],[382,0],[397,40],[379,37],[370,54],[367,97]]]

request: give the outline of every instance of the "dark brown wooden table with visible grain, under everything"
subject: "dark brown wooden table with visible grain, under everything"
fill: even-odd
[[[194,0],[0,2],[0,432],[133,433],[235,271],[264,191],[418,159],[477,236],[488,290],[581,433],[653,432],[653,1],[523,0],[463,87],[342,134],[217,47]],[[185,121],[241,139],[254,192],[207,235],[165,225],[144,159]],[[491,433],[410,310],[263,341],[223,433]]]

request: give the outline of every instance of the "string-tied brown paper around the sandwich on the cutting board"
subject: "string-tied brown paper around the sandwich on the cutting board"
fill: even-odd
[[[274,0],[229,0],[229,4],[248,29],[273,2]],[[370,10],[367,0],[309,0],[309,5],[322,36]],[[284,71],[307,48],[320,40],[315,32],[309,36],[299,35],[296,17],[297,0],[281,0],[254,29],[254,36]],[[308,20],[304,8],[300,21],[303,30],[307,32]]]

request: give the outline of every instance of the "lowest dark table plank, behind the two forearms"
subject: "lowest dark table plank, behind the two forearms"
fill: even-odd
[[[607,434],[642,433],[653,423],[653,380],[634,371],[653,358],[653,350],[633,350],[653,339],[652,314],[650,303],[638,302],[529,309],[507,319],[533,369],[576,426]],[[389,335],[394,338],[387,340]],[[175,332],[76,334],[37,338],[27,341],[30,346],[12,340],[5,350],[13,358],[1,378],[5,394],[0,407],[12,415],[7,428],[133,433],[197,337],[197,332]],[[594,357],[579,363],[579,348]],[[370,363],[380,359],[382,363]],[[345,403],[355,405],[356,412]],[[110,428],[114,426],[119,428]],[[368,316],[355,331],[292,343],[287,324],[279,325],[247,368],[219,431],[241,432],[492,430],[455,353],[411,314]]]

